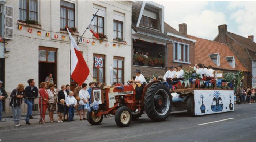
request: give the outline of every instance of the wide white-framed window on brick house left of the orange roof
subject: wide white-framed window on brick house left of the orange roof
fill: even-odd
[[[177,46],[177,60],[175,60],[175,43],[177,43],[178,44],[178,46]],[[184,46],[183,46],[183,60],[184,61],[179,61],[178,59],[179,59],[179,54],[178,54],[178,52],[179,52],[179,45],[180,44],[183,44]],[[185,62],[185,60],[186,60],[186,46],[188,46],[188,62]],[[181,42],[173,42],[173,62],[177,62],[177,63],[184,63],[184,64],[191,64],[190,62],[189,62],[189,44],[186,44],[186,43],[181,43]]]

